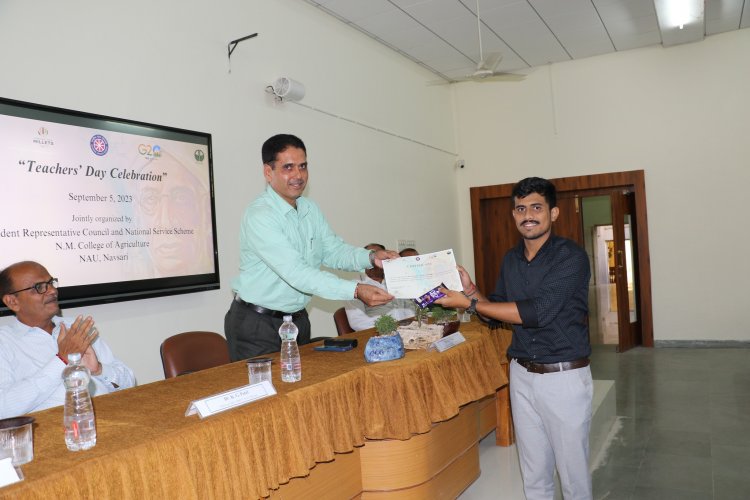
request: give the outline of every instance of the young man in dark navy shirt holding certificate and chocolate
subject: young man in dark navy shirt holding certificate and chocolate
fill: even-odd
[[[560,210],[551,182],[530,177],[512,195],[522,241],[505,255],[495,291],[484,297],[459,268],[463,292],[437,302],[513,325],[510,396],[527,500],[554,498],[555,469],[565,500],[591,499],[589,259],[552,233]]]

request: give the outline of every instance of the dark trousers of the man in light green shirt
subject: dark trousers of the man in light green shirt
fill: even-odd
[[[224,317],[224,335],[229,345],[229,357],[232,361],[252,358],[270,352],[281,350],[279,327],[284,322],[282,318],[260,314],[255,310],[232,301],[229,311]],[[299,329],[297,343],[299,345],[310,342],[310,318],[307,311],[301,313],[294,324]]]

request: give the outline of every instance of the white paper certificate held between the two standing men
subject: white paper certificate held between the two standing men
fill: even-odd
[[[383,261],[388,293],[397,299],[414,299],[440,283],[463,290],[453,250]]]

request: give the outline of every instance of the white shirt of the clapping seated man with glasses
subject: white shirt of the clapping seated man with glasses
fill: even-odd
[[[0,326],[0,418],[15,417],[29,412],[62,405],[65,386],[62,371],[65,363],[57,357],[60,323],[70,326],[74,320],[55,316],[52,335],[30,327],[13,318]],[[92,396],[127,389],[135,385],[133,371],[115,358],[112,350],[99,337],[91,344],[102,364],[102,372],[92,376]],[[115,388],[113,383],[119,387]]]

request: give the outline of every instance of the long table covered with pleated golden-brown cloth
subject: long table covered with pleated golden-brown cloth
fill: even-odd
[[[248,383],[244,362],[94,398],[97,445],[65,447],[62,408],[37,412],[34,460],[0,498],[260,498],[367,439],[409,439],[507,384],[496,334],[477,322],[446,352],[368,364],[372,330],[348,352],[302,346],[302,380],[206,419],[189,403]]]

